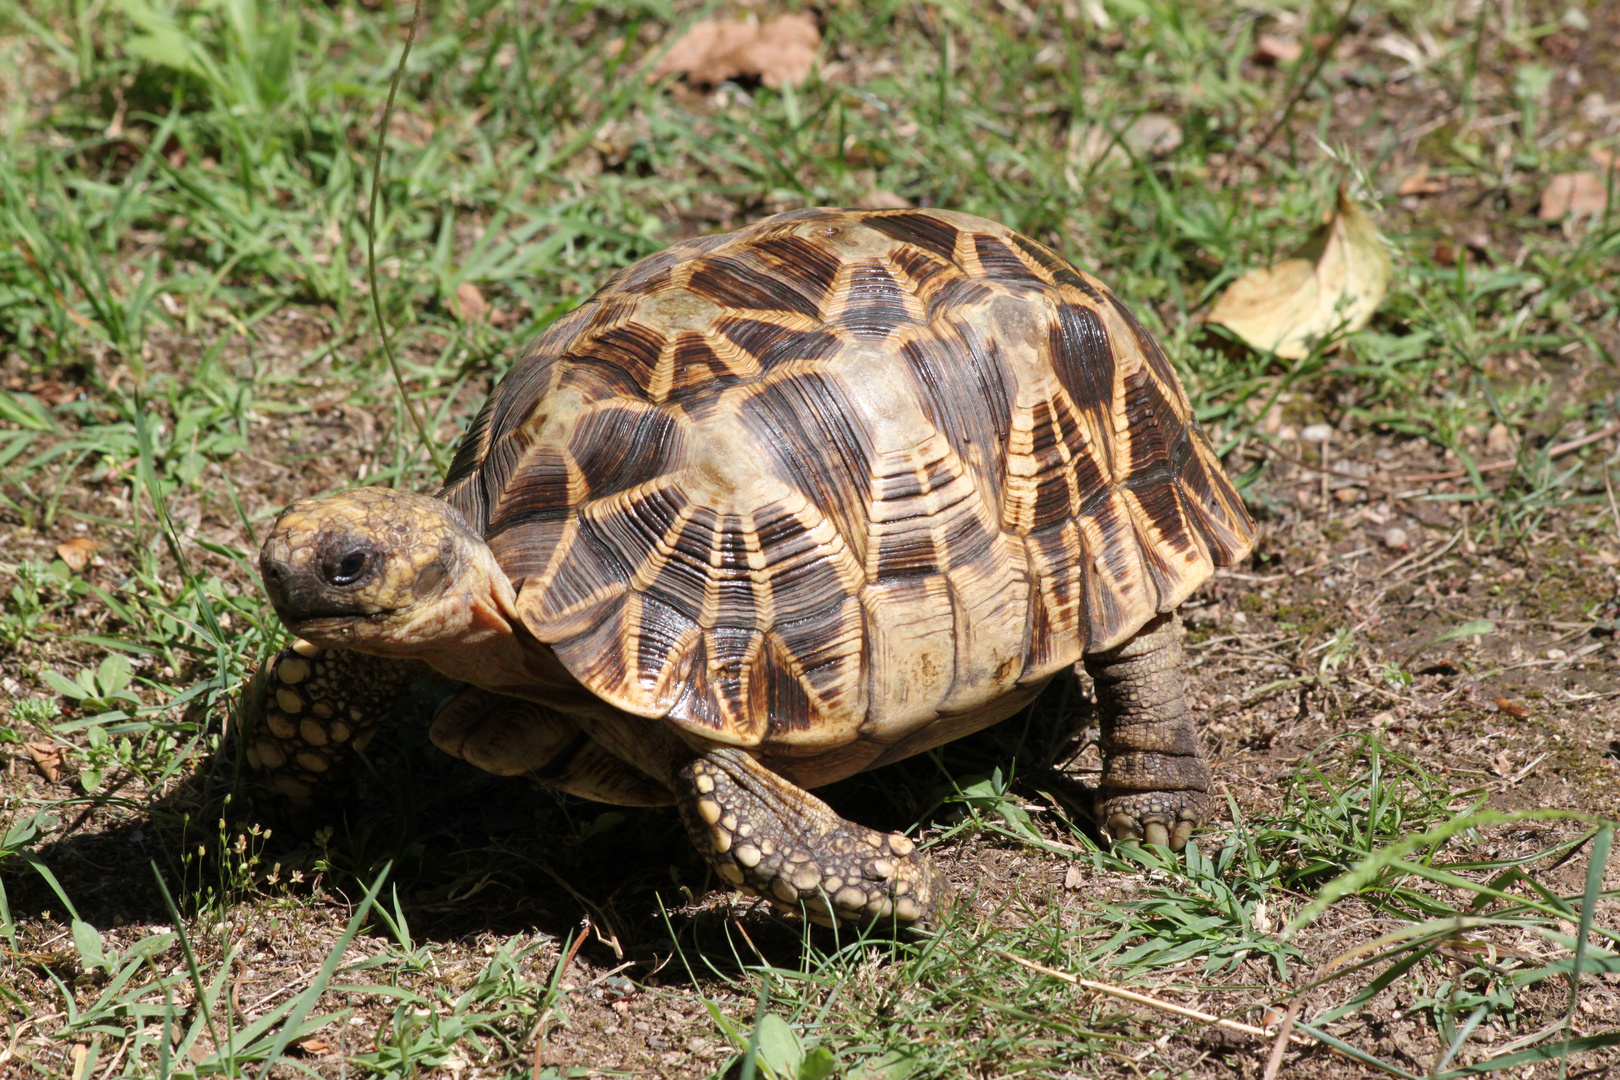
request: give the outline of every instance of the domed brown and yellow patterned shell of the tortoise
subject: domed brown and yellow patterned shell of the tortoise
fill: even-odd
[[[795,210],[622,270],[441,495],[585,688],[778,755],[1016,706],[1254,536],[1126,306],[943,210]]]

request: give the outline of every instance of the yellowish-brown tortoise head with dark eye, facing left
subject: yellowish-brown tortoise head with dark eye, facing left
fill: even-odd
[[[510,635],[512,585],[447,502],[356,487],[301,499],[259,551],[264,591],[300,638],[436,662]]]

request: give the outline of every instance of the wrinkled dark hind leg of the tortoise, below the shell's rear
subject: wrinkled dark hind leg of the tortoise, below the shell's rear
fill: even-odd
[[[1210,769],[1187,711],[1181,620],[1153,622],[1110,653],[1085,657],[1102,712],[1097,823],[1179,852],[1209,818]]]

